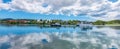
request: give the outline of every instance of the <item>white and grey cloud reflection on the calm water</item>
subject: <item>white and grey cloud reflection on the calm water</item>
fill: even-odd
[[[84,32],[29,33],[0,37],[0,49],[108,49],[120,48],[119,30],[95,28]],[[46,43],[43,43],[46,41]]]

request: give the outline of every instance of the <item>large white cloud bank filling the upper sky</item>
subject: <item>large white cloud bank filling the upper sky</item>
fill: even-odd
[[[114,20],[120,12],[120,0],[12,0],[2,3],[0,9],[22,10],[31,13],[87,15],[94,19]]]

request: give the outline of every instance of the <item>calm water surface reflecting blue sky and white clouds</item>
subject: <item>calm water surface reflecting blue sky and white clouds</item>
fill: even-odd
[[[120,26],[0,25],[0,49],[120,49]]]

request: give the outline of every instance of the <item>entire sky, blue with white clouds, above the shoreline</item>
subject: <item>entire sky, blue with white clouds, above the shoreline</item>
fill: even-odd
[[[120,0],[0,0],[0,19],[120,19]]]

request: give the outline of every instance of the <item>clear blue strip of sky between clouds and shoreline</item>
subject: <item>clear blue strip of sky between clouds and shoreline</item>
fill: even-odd
[[[83,21],[93,21],[92,18],[88,16],[67,16],[67,15],[54,15],[54,14],[39,14],[39,13],[29,13],[24,11],[8,11],[1,10],[0,18],[14,18],[14,19],[61,19],[61,20],[83,20]]]

